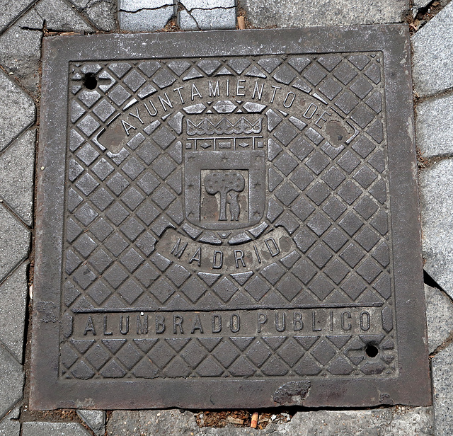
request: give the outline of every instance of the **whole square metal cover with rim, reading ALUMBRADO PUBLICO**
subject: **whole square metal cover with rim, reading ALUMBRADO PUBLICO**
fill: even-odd
[[[33,408],[428,404],[406,26],[45,38]]]

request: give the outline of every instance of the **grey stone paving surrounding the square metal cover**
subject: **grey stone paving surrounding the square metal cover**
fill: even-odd
[[[453,434],[453,2],[447,0],[0,0],[0,436]],[[432,10],[431,10],[432,8]],[[425,16],[440,10],[428,23]],[[321,11],[321,12],[320,12]],[[398,23],[413,36],[416,137],[433,407],[299,411],[265,430],[199,428],[191,412],[29,413],[24,331],[33,298],[33,180],[41,42],[56,33]],[[119,19],[118,19],[119,18]],[[415,18],[413,20],[412,18]],[[423,25],[424,24],[424,25]],[[238,30],[239,31],[239,30]],[[29,341],[30,338],[27,338]],[[27,344],[29,345],[29,344]],[[26,391],[26,389],[25,389]],[[72,418],[65,418],[71,416]],[[55,420],[59,422],[54,422]]]

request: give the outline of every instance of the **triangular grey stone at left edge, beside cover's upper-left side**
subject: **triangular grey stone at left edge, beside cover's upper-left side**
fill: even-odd
[[[35,103],[0,71],[0,151],[35,121]]]

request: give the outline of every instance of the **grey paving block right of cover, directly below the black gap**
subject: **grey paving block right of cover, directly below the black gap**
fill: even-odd
[[[426,321],[428,323],[428,351],[432,353],[453,333],[452,300],[435,287],[425,285]]]

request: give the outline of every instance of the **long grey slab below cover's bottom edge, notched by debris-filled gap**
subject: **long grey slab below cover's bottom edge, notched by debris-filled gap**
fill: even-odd
[[[374,411],[298,412],[287,423],[270,423],[263,430],[237,428],[199,428],[191,412],[114,411],[107,434],[115,436],[433,436],[432,408],[396,407]]]

